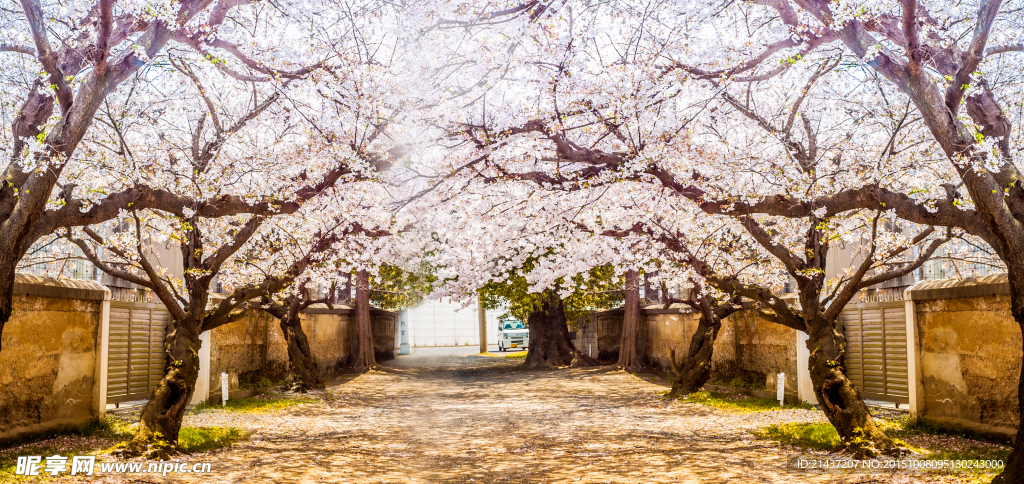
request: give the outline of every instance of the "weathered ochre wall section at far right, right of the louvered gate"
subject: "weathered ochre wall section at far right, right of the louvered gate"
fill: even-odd
[[[912,300],[920,419],[1002,435],[1020,422],[1021,331],[1006,274],[921,282]]]

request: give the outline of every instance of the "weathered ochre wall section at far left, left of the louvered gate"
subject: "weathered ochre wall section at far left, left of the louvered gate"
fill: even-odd
[[[98,416],[101,307],[110,292],[84,280],[17,274],[0,350],[0,441]]]

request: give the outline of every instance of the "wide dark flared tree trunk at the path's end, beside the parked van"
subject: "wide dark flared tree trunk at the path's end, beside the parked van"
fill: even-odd
[[[541,309],[530,313],[529,347],[525,367],[594,366],[597,361],[581,353],[569,340],[562,300],[554,291],[545,291]]]

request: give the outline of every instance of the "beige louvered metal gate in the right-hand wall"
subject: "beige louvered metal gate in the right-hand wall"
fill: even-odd
[[[851,304],[842,313],[846,376],[865,399],[909,403],[903,301]]]

